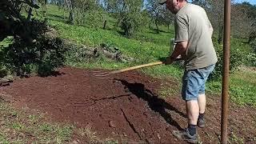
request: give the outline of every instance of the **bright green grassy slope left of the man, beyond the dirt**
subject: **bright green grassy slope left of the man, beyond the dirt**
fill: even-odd
[[[54,6],[50,6],[48,10],[52,13],[51,15],[55,15],[55,18],[62,16],[62,13],[55,11],[56,8],[54,8]],[[164,58],[168,55],[170,50],[169,39],[173,37],[173,33],[170,32],[154,34],[154,30],[145,29],[136,36],[139,40],[134,38],[129,39],[122,37],[117,30],[94,29],[87,26],[70,26],[66,23],[54,20],[50,20],[49,23],[58,30],[62,38],[68,38],[73,42],[87,46],[99,46],[101,43],[118,46],[122,53],[137,59],[136,63],[125,64],[107,60],[94,63],[70,64],[75,66],[118,69],[147,62],[156,62],[159,61],[160,58]],[[109,22],[108,27],[112,29],[113,24]],[[154,75],[166,75],[169,73],[170,75],[180,76],[182,74],[177,66],[156,66],[147,70],[150,70],[150,74]]]

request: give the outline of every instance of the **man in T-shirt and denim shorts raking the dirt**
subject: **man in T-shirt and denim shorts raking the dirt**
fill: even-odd
[[[177,44],[165,63],[171,64],[180,54],[185,60],[182,99],[186,101],[188,127],[182,131],[174,131],[173,134],[187,142],[196,143],[196,126],[205,126],[206,80],[218,61],[211,39],[213,28],[206,11],[200,6],[190,4],[186,0],[160,0],[159,4],[166,4],[166,9],[175,14]]]

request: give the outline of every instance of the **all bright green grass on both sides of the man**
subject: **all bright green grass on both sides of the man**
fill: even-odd
[[[50,14],[55,18],[62,17],[62,13],[56,10],[56,7],[49,6],[48,10]],[[142,30],[135,38],[124,38],[120,35],[116,29],[113,29],[113,23],[109,22],[109,30],[94,29],[87,26],[70,26],[66,23],[54,20],[54,17],[50,21],[50,25],[54,26],[62,38],[68,38],[76,43],[81,43],[88,46],[99,46],[100,43],[108,43],[114,46],[118,46],[124,54],[138,59],[137,63],[120,63],[112,61],[99,61],[94,63],[80,63],[71,64],[74,66],[85,67],[102,67],[106,69],[119,69],[126,66],[134,66],[146,62],[155,62],[160,58],[164,58],[168,55],[170,50],[170,38],[174,38],[173,28],[166,30],[166,27],[161,27],[163,32],[160,34],[154,34],[153,30]],[[112,22],[114,20],[112,19]],[[231,39],[231,48],[239,48],[241,50],[248,51],[250,47],[244,44],[239,39]],[[143,69],[147,74],[154,75],[156,77],[173,77],[181,78],[182,69],[178,66],[154,66]],[[243,76],[243,78],[241,77]],[[230,76],[230,95],[234,102],[240,104],[249,104],[256,106],[256,89],[255,83],[250,82],[252,77],[250,72],[245,70],[237,71]],[[255,75],[255,74],[254,74]],[[209,82],[208,89],[212,93],[221,93],[221,81]],[[168,91],[168,90],[167,90]],[[162,92],[166,94],[166,92]]]

